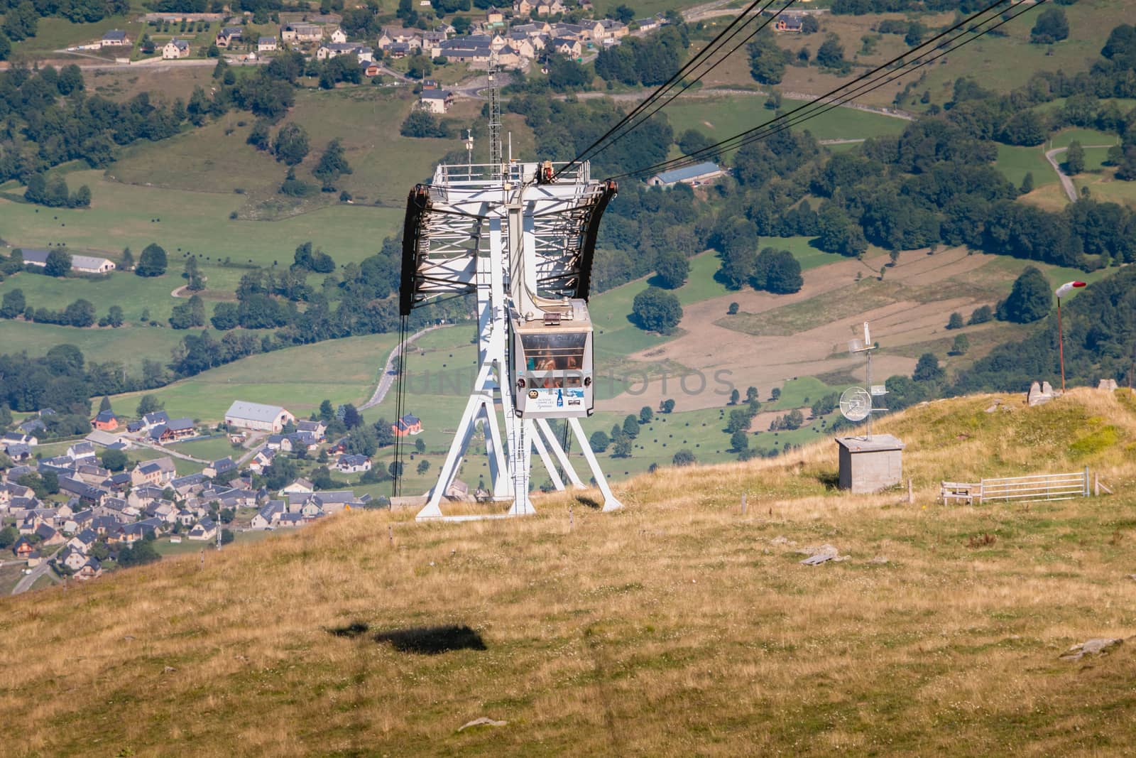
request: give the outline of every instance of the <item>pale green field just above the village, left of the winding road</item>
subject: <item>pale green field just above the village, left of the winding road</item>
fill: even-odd
[[[166,403],[172,417],[214,423],[224,418],[234,400],[284,406],[307,418],[325,398],[333,403],[356,405],[369,398],[395,341],[395,335],[375,334],[276,350],[112,400],[123,408],[133,408],[142,394],[154,394]]]

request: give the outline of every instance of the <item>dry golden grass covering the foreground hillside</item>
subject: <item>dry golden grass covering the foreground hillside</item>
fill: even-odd
[[[209,551],[203,568],[191,555],[6,598],[3,752],[1128,751],[1131,643],[1058,656],[1136,625],[1136,402],[1006,400],[1012,411],[983,413],[987,395],[879,424],[908,442],[914,506],[832,490],[827,442],[661,469],[621,485],[616,514],[568,495],[508,522],[354,513]],[[941,478],[1085,465],[1118,494],[934,503]],[[825,542],[851,559],[797,563]],[[485,649],[374,639],[444,625]],[[479,716],[509,723],[457,732]]]

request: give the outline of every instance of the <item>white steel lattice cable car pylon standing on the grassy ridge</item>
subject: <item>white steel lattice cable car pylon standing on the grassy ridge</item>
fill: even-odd
[[[586,164],[556,182],[538,182],[542,170],[551,175],[548,165],[537,164],[442,165],[433,182],[415,188],[408,199],[401,311],[409,314],[436,295],[469,293],[477,297],[478,318],[476,380],[419,519],[481,518],[442,511],[478,427],[485,435],[490,499],[511,503],[500,516],[534,513],[528,497],[534,448],[556,489],[585,488],[548,418],[518,413],[513,392],[524,381],[517,376],[512,351],[519,347],[511,330],[518,318],[552,308],[549,303],[586,300],[599,220],[616,188],[591,181]],[[603,495],[603,509],[620,507],[579,418],[565,420]]]

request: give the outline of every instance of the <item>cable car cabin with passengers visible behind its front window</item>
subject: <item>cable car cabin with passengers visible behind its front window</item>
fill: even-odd
[[[512,322],[513,405],[523,418],[592,415],[592,319],[583,300],[570,302],[570,314]]]

